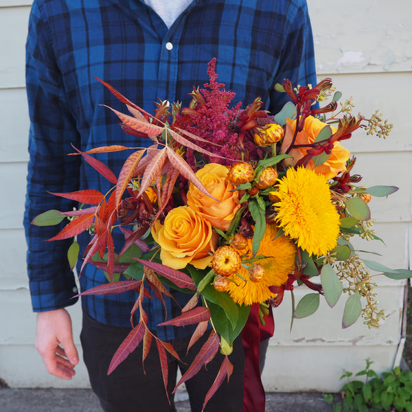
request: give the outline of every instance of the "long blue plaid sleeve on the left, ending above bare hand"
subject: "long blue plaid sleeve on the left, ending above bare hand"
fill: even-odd
[[[34,312],[74,304],[77,293],[67,249],[73,240],[47,239],[61,227],[38,227],[32,219],[49,209],[68,211],[72,201],[51,192],[78,190],[80,159],[67,156],[78,133],[67,105],[65,88],[49,40],[46,19],[34,1],[26,43],[26,88],[30,113],[27,194],[23,225],[27,240],[27,272]]]

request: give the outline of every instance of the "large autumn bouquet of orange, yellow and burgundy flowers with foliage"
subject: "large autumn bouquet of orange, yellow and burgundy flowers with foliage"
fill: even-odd
[[[151,139],[152,145],[132,148],[119,176],[91,155],[131,148],[78,151],[113,183],[113,190],[56,194],[89,207],[47,211],[34,219],[36,225],[47,225],[50,218],[60,222],[69,217],[52,240],[91,233],[82,265],[101,268],[109,282],[83,294],[137,292],[133,313],[139,310],[139,323],[114,354],[108,373],[141,341],[148,351],[155,339],[167,376],[165,353],[176,352],[152,334],[142,302],[151,297],[150,290],[163,302],[171,296],[170,288],[192,294],[181,315],[163,325],[197,324],[190,345],[209,333],[177,386],[218,350],[225,355],[205,404],[231,375],[227,355],[251,308],[263,323],[286,291],[293,297],[294,288],[304,284],[308,293],[296,306],[293,299],[292,318],[315,312],[320,295],[333,307],[345,293],[343,327],[361,314],[369,327],[377,326],[385,315],[377,308],[369,269],[394,279],[411,276],[410,271],[361,260],[350,242],[353,236],[379,240],[367,203],[371,196],[398,189],[358,185],[361,176],[352,172],[356,159],[341,146],[359,128],[386,137],[392,126],[382,122],[380,113],[370,119],[353,116],[351,100],[339,108],[341,93],[328,78],[315,87],[294,88],[289,80],[277,84],[290,102],[276,115],[261,110],[259,98],[246,108],[231,106],[235,94],[216,81],[215,64],[209,62],[209,83],[192,91],[189,107],[159,102],[155,114],[102,82],[130,112],[111,109],[124,132]],[[324,100],[330,102],[319,108],[317,102]],[[116,253],[115,227],[124,234]],[[74,240],[72,266],[77,258]]]

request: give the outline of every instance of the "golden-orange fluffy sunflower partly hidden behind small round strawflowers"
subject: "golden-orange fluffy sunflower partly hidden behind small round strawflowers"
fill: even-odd
[[[296,247],[285,236],[275,238],[276,233],[277,227],[275,225],[266,226],[258,255],[264,255],[267,258],[255,261],[264,267],[264,275],[259,282],[249,280],[247,268],[243,266],[239,269],[238,274],[247,280],[246,283],[237,275],[230,277],[234,282],[230,282],[228,292],[237,304],[251,305],[275,297],[276,294],[269,290],[269,286],[284,284],[289,273],[293,273]],[[252,240],[248,239],[248,246],[240,251],[241,255],[245,255],[243,259],[252,257],[251,250]]]

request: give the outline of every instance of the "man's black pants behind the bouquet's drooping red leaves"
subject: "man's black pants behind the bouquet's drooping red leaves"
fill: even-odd
[[[163,377],[156,343],[152,341],[150,353],[141,365],[141,346],[130,354],[109,376],[108,365],[117,347],[122,343],[130,329],[104,325],[88,314],[83,314],[83,328],[80,335],[84,363],[89,371],[91,387],[96,393],[106,412],[175,412],[172,390],[176,385],[177,369],[184,374],[209,336],[203,336],[186,354],[187,339],[172,341],[174,350],[182,362],[168,354],[168,393],[165,393]],[[202,367],[201,371],[185,382],[190,398],[192,412],[201,412],[203,401],[220,369],[223,356],[220,352],[214,359]],[[241,412],[243,405],[244,354],[242,339],[238,337],[233,345],[229,360],[234,366],[233,374],[227,382],[222,383],[218,391],[209,400],[205,411]]]

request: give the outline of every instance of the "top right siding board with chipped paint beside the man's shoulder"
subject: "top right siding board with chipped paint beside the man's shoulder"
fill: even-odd
[[[412,71],[409,0],[308,0],[318,73]]]

